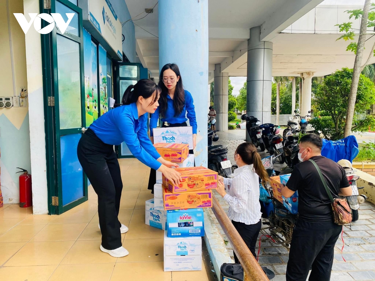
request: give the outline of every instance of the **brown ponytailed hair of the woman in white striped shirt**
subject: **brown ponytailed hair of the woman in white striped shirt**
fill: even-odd
[[[254,171],[261,178],[262,182],[270,181],[268,173],[266,169],[264,169],[262,158],[260,157],[255,145],[248,142],[241,143],[236,149],[236,154],[241,156],[242,161],[245,164],[253,164]]]

